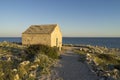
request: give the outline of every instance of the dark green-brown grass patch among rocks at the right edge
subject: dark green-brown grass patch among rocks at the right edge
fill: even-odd
[[[108,70],[109,65],[120,70],[120,59],[116,58],[115,54],[92,54],[94,62],[103,70]]]

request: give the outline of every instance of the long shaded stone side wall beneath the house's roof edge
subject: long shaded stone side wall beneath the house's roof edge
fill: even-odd
[[[22,44],[44,44],[51,46],[51,36],[49,34],[22,34]]]

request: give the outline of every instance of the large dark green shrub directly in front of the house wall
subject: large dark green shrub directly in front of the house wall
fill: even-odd
[[[46,45],[30,45],[25,52],[28,54],[27,59],[33,59],[37,54],[45,54],[50,58],[57,59],[58,49],[56,47],[49,47]]]

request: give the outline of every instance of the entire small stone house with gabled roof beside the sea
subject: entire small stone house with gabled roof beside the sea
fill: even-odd
[[[57,24],[32,25],[22,33],[23,45],[48,45],[62,47],[62,34]]]

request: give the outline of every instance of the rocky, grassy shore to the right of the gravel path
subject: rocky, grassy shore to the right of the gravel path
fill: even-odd
[[[72,45],[80,61],[88,64],[99,80],[120,80],[120,49],[91,45]]]

